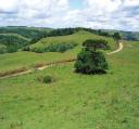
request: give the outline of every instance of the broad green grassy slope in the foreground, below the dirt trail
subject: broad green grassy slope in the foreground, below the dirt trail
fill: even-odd
[[[75,74],[72,63],[0,80],[1,129],[138,129],[139,42],[124,47],[106,56],[106,75]]]

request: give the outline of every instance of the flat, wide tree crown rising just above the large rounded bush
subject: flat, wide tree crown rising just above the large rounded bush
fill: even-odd
[[[83,43],[83,47],[96,51],[97,49],[109,49],[108,41],[102,39],[88,39]]]

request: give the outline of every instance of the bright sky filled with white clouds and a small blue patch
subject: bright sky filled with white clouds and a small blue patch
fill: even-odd
[[[0,0],[0,26],[139,31],[139,0]]]

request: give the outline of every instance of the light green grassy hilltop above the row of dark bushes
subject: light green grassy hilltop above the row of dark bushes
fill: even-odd
[[[88,31],[80,30],[76,34],[68,35],[68,36],[58,36],[58,37],[49,37],[49,38],[43,38],[37,43],[33,44],[31,48],[43,48],[49,46],[50,43],[61,43],[61,42],[75,42],[78,44],[83,44],[83,42],[87,39],[105,39],[109,41],[110,46],[112,49],[114,49],[114,41],[112,38],[106,38],[98,35],[93,35]]]

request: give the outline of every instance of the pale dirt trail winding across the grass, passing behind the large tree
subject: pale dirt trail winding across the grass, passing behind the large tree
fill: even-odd
[[[111,54],[117,53],[117,52],[122,51],[123,48],[124,48],[123,42],[119,42],[117,50],[115,50],[113,52],[110,52],[110,53],[106,53],[106,54],[111,55]],[[49,63],[49,64],[45,64],[43,66],[38,66],[38,67],[34,68],[34,69],[27,69],[25,72],[15,73],[15,74],[12,74],[12,75],[5,75],[3,77],[0,77],[0,79],[15,77],[15,76],[25,75],[25,74],[30,74],[30,73],[34,73],[36,69],[37,70],[43,70],[46,68],[49,68],[49,67],[52,67],[52,66],[55,66],[55,65],[59,65],[59,64],[66,64],[66,63],[74,62],[74,61],[76,61],[76,59],[56,61],[56,62],[52,62],[52,63]]]

